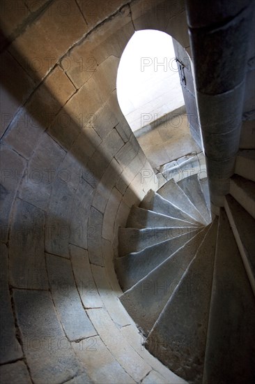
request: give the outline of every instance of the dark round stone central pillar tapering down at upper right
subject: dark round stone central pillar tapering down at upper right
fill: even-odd
[[[187,0],[212,207],[223,206],[238,152],[254,1]]]

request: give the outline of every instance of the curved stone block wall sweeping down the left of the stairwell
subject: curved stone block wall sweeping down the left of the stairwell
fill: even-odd
[[[157,189],[118,106],[118,62],[135,29],[188,50],[185,11],[181,1],[125,3],[4,9],[3,383],[182,382],[144,350],[113,258],[130,207]]]

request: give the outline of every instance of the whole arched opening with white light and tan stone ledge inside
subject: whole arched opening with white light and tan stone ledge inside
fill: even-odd
[[[135,32],[121,56],[118,103],[153,168],[201,152],[190,133],[196,110],[189,110],[185,71],[191,74],[187,52],[154,29]]]

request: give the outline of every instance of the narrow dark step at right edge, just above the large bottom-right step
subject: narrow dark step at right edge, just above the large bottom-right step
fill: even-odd
[[[255,295],[255,220],[231,195],[224,207]]]

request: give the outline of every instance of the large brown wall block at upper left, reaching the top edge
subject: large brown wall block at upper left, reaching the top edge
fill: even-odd
[[[87,30],[76,2],[56,0],[13,41],[10,52],[39,82]]]

